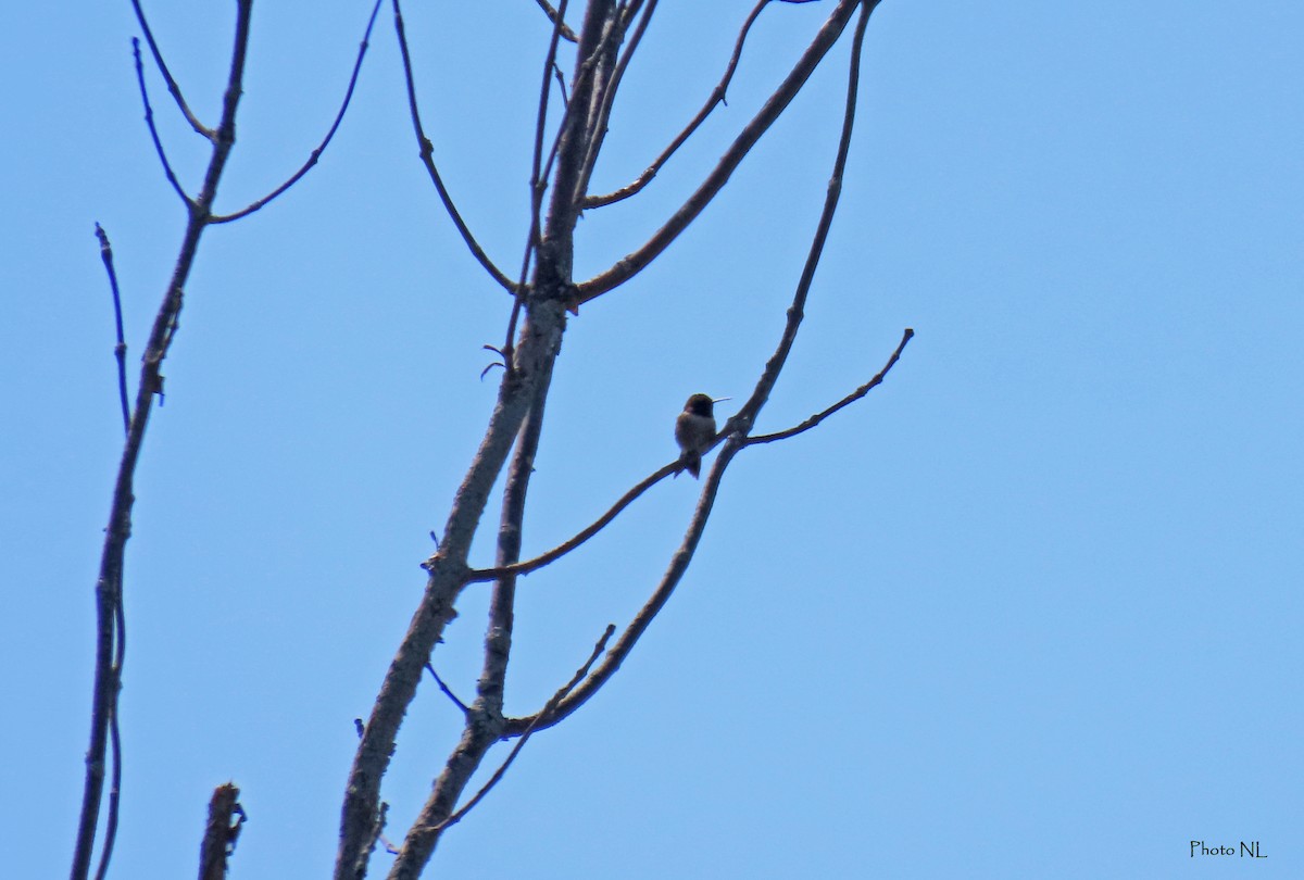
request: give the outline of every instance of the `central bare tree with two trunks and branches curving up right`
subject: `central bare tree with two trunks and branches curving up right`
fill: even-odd
[[[486,572],[472,572],[467,566],[467,557],[471,541],[479,527],[479,520],[486,507],[488,494],[507,463],[514,441],[518,442],[518,446],[516,455],[512,459],[512,471],[507,478],[507,491],[503,497],[503,512],[498,535],[498,565],[488,572],[498,583],[485,636],[485,660],[477,688],[477,700],[468,708],[467,724],[462,739],[446,761],[430,799],[421,811],[419,823],[408,832],[399,858],[390,871],[391,880],[415,880],[419,876],[439,838],[439,833],[447,827],[449,820],[458,815],[454,810],[456,800],[493,743],[505,735],[524,737],[537,729],[557,724],[587,701],[609,681],[625,657],[629,656],[642,632],[645,631],[651,621],[660,613],[682,579],[702,538],[716,494],[719,493],[722,475],[733,456],[746,447],[747,432],[768,398],[769,390],[777,381],[778,372],[786,360],[797,327],[801,323],[802,308],[837,205],[841,173],[845,167],[854,120],[861,44],[868,16],[876,5],[878,0],[841,0],[820,33],[810,43],[802,60],[798,61],[784,83],[771,96],[769,102],[767,102],[765,108],[743,129],[743,133],[735,141],[734,147],[732,147],[725,160],[717,166],[712,175],[708,176],[707,183],[699,188],[699,193],[694,197],[698,201],[690,199],[690,203],[681,209],[679,214],[672,220],[672,224],[679,223],[678,229],[665,233],[664,228],[662,233],[659,233],[668,235],[664,241],[653,236],[653,240],[635,254],[635,257],[644,261],[639,266],[625,266],[621,263],[613,267],[613,270],[592,279],[588,283],[589,287],[587,291],[579,291],[580,295],[587,292],[588,299],[592,299],[631,276],[642,265],[651,262],[664,249],[669,240],[724,185],[733,167],[741,162],[747,150],[772,124],[784,107],[786,107],[793,95],[806,82],[814,66],[824,57],[832,43],[836,42],[848,23],[852,10],[855,7],[861,7],[861,21],[855,29],[852,50],[848,111],[844,117],[838,158],[835,162],[835,173],[829,183],[824,213],[815,232],[815,240],[811,245],[811,253],[807,258],[802,280],[794,292],[793,305],[789,309],[788,326],[780,340],[778,351],[767,362],[762,377],[758,379],[756,391],[754,391],[752,399],[747,404],[745,417],[732,418],[726,424],[726,430],[717,438],[717,442],[720,439],[724,441],[724,446],[707,475],[683,542],[672,558],[665,575],[643,610],[639,611],[619,636],[615,647],[608,651],[601,660],[597,660],[601,648],[596,651],[580,675],[565,686],[559,696],[554,701],[549,701],[544,707],[544,711],[532,717],[507,720],[502,717],[501,709],[511,643],[515,578],[531,570],[529,566],[546,565],[546,562],[540,562],[542,557],[527,563],[518,562],[522,505],[528,485],[528,469],[533,463],[533,454],[537,445],[542,404],[546,399],[553,364],[566,327],[565,306],[572,306],[578,301],[582,301],[576,296],[576,288],[571,278],[574,229],[579,213],[579,199],[584,189],[585,164],[588,158],[593,155],[593,139],[601,137],[604,124],[602,108],[605,106],[604,95],[606,94],[604,90],[612,87],[617,69],[615,50],[623,34],[622,27],[618,26],[617,17],[635,8],[635,3],[617,5],[614,0],[592,0],[589,3],[579,34],[572,94],[569,96],[567,112],[558,126],[557,146],[549,153],[545,162],[540,162],[542,134],[539,134],[539,130],[542,129],[542,121],[540,120],[544,112],[546,112],[546,91],[542,93],[541,99],[544,110],[540,111],[540,116],[536,119],[535,183],[550,180],[552,197],[545,219],[537,227],[539,232],[532,231],[531,233],[531,242],[533,242],[535,235],[539,235],[537,245],[532,245],[535,261],[532,283],[528,287],[523,283],[516,286],[518,297],[514,313],[519,312],[523,314],[524,322],[519,334],[509,334],[509,340],[512,340],[515,347],[505,345],[502,352],[511,368],[505,370],[499,383],[498,402],[490,416],[480,450],[454,497],[449,520],[443,529],[443,541],[436,554],[425,562],[424,567],[429,572],[429,579],[420,606],[416,609],[408,632],[386,673],[370,718],[363,730],[359,750],[349,773],[340,817],[340,849],[335,868],[336,880],[355,880],[361,877],[366,871],[366,854],[364,850],[369,845],[369,836],[374,828],[379,804],[381,781],[389,769],[390,756],[403,714],[415,697],[416,687],[421,678],[421,669],[429,661],[430,652],[441,640],[449,621],[455,617],[454,606],[460,592],[471,583],[473,576],[484,578],[486,575]],[[563,9],[565,5],[562,7],[562,12]],[[396,18],[399,18],[396,4],[395,12]],[[558,39],[557,31],[558,29],[554,27],[554,43]],[[556,69],[554,57],[554,52],[550,52],[548,64],[545,64],[545,83]],[[545,89],[550,89],[550,85],[545,85]],[[409,85],[409,96],[411,93]],[[424,138],[420,134],[420,128],[419,137]],[[552,164],[553,159],[556,159],[556,168]],[[539,216],[537,211],[539,209],[536,209],[536,216]],[[668,227],[672,224],[668,224]],[[528,266],[527,257],[527,271]],[[523,272],[522,280],[524,278],[526,272]],[[515,325],[511,323],[510,326],[514,327]],[[674,469],[674,464],[666,465],[661,472],[649,477],[649,481],[655,482],[664,478],[666,473]],[[648,481],[644,482],[651,485]],[[618,502],[599,523],[569,541],[567,545],[549,551],[545,557],[550,561],[569,551],[571,549],[569,545],[587,540],[606,521],[610,521],[610,518],[618,515],[619,510],[630,503],[632,498],[644,491],[647,485],[640,484],[635,490],[627,493],[627,499]],[[601,644],[605,644],[605,641],[606,636],[604,636]],[[496,778],[501,778],[501,773],[496,774]],[[472,803],[479,802],[480,797],[472,798]]]

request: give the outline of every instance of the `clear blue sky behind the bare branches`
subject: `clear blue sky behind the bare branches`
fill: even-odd
[[[232,4],[158,37],[215,120]],[[292,171],[368,8],[259,3],[220,205]],[[705,98],[750,3],[666,3],[596,186]],[[827,16],[775,4],[728,108],[576,275],[636,246]],[[466,216],[519,265],[546,25],[529,0],[411,4],[421,99]],[[0,804],[5,871],[65,876],[93,588],[130,362],[183,214],[146,129],[129,4],[14,4],[0,37]],[[885,0],[841,213],[762,430],[619,675],[539,735],[432,876],[1304,876],[1304,7]],[[634,283],[571,322],[526,548],[669,460],[694,391],[742,398],[823,198],[849,48]],[[192,192],[206,159],[150,72]],[[128,549],[117,877],[192,876],[213,787],[243,880],[326,876],[356,738],[494,398],[507,300],[416,160],[389,12],[353,108],[289,196],[203,239]],[[725,413],[728,407],[724,404]],[[536,709],[638,609],[698,486],[657,486],[522,589],[509,707]],[[484,561],[485,546],[476,558]],[[477,673],[484,593],[437,662]],[[385,785],[400,836],[459,729],[424,686]],[[497,755],[490,764],[497,764]],[[1189,858],[1260,841],[1265,860]],[[383,876],[377,857],[376,872]],[[442,871],[442,873],[438,873]]]

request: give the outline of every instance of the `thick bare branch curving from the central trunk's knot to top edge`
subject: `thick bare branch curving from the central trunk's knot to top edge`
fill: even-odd
[[[759,141],[775,120],[778,119],[780,113],[786,110],[788,104],[806,83],[806,80],[810,78],[810,74],[819,65],[824,55],[829,48],[832,48],[833,43],[837,42],[837,38],[842,34],[842,29],[846,27],[846,22],[852,17],[852,12],[855,10],[855,7],[858,7],[861,1],[862,0],[838,1],[823,27],[820,27],[819,33],[802,53],[802,57],[798,59],[795,65],[793,65],[792,72],[789,72],[788,77],[782,83],[780,83],[778,89],[775,90],[775,93],[769,96],[769,100],[765,102],[764,107],[760,108],[756,116],[754,116],[752,120],[743,126],[742,132],[725,151],[725,155],[720,159],[711,173],[707,175],[702,185],[698,186],[698,190],[690,196],[679,210],[677,210],[660,229],[652,233],[652,237],[648,239],[640,248],[622,257],[606,271],[578,284],[576,306],[597,299],[602,293],[634,278],[634,275],[645,269],[648,263],[665,250],[670,242],[674,241],[679,233],[683,232],[690,223],[692,223],[694,219],[696,219],[705,206],[711,203],[711,199],[716,197],[716,193],[719,193],[729,181],[734,169],[751,151],[751,147],[756,145],[756,141]],[[874,5],[878,5],[876,0]]]

